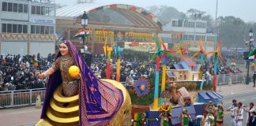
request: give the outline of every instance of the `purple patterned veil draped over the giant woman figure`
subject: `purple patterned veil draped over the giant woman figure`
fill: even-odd
[[[79,80],[79,119],[81,126],[107,125],[115,113],[122,106],[122,91],[117,89],[111,83],[101,81],[85,64],[85,61],[78,54],[76,47],[69,41],[64,41],[70,49],[70,55],[73,58],[74,65],[79,67],[81,79]],[[56,58],[60,57],[58,52]],[[50,76],[47,83],[45,100],[41,118],[45,117],[47,105],[52,98],[53,92],[58,85],[62,83],[60,71],[57,70]]]

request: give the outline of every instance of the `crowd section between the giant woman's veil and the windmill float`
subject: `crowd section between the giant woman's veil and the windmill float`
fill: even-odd
[[[107,62],[103,54],[98,54],[93,57],[91,69],[99,78],[106,77]],[[120,82],[125,82],[127,77],[137,80],[138,78],[148,78],[156,68],[155,65],[147,61],[140,61],[134,57],[122,57],[120,66]],[[116,62],[115,57],[111,60],[111,79],[116,77]]]

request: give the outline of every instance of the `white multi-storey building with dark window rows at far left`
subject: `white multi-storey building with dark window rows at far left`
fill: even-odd
[[[55,53],[55,3],[0,0],[1,54]]]

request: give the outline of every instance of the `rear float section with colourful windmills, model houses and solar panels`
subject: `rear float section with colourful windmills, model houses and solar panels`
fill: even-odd
[[[214,91],[214,88],[216,88],[214,87],[214,84],[216,84],[213,82],[214,80],[205,80],[204,76],[202,76],[204,55],[215,54],[216,58],[217,55],[221,58],[219,53],[221,43],[216,50],[206,53],[205,50],[202,49],[201,42],[200,50],[194,55],[201,54],[201,65],[199,65],[195,64],[192,58],[184,57],[184,52],[187,51],[186,49],[179,48],[177,50],[168,50],[167,47],[164,46],[164,42],[161,39],[160,41],[161,42],[157,42],[156,53],[152,56],[152,60],[156,59],[154,102],[149,106],[136,106],[137,108],[141,108],[141,111],[138,109],[137,113],[133,111],[132,116],[135,120],[139,120],[141,114],[145,113],[148,119],[159,118],[160,121],[150,121],[149,126],[168,126],[171,124],[185,126],[187,122],[184,122],[184,117],[186,117],[187,114],[190,115],[190,119],[192,120],[190,121],[191,124],[200,125],[200,123],[197,123],[198,120],[196,120],[195,117],[198,115],[206,115],[205,109],[209,102],[213,102],[214,105],[220,104],[223,98],[223,96]],[[166,69],[166,55],[171,53],[181,54],[181,60],[179,63],[173,65],[175,69]],[[215,66],[217,62],[216,58]],[[163,67],[162,74],[159,73],[160,63],[162,63]],[[159,80],[160,76],[162,77],[161,82]],[[161,85],[159,86],[159,84]],[[135,85],[137,85],[137,83],[135,83]],[[161,87],[161,89],[159,90],[158,87]],[[135,86],[135,88],[135,92],[143,92],[145,90],[145,88],[141,89],[137,88],[137,86]],[[140,95],[137,96],[141,97]],[[145,109],[148,110],[145,111]],[[166,113],[171,113],[171,115]],[[134,123],[134,125],[139,124]]]

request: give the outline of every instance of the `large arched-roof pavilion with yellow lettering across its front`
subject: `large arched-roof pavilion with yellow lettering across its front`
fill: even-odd
[[[125,46],[125,43],[155,43],[152,36],[161,31],[160,20],[145,9],[125,4],[86,3],[65,6],[56,10],[56,34],[58,40],[70,39],[77,48],[82,47],[81,38],[73,35],[83,27],[81,15],[88,15],[90,35],[85,42],[92,54],[104,53],[104,42],[107,45]]]

